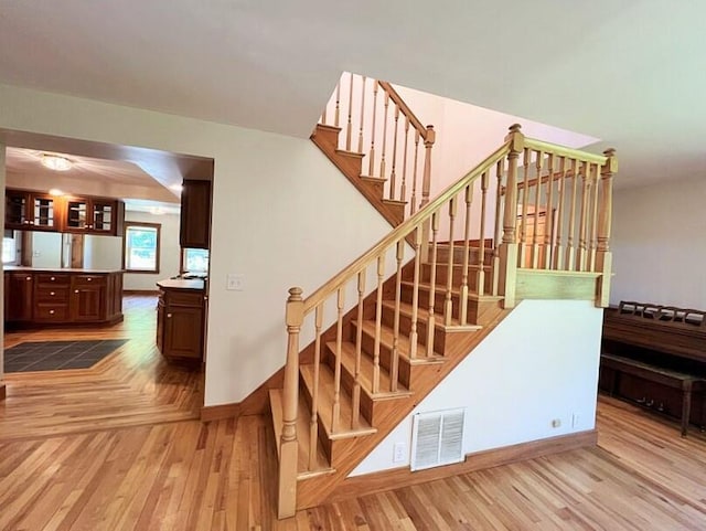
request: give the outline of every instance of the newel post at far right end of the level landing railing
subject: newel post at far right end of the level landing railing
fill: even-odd
[[[613,176],[618,171],[614,149],[603,151],[606,163],[600,171],[600,205],[598,213],[598,251],[596,270],[601,273],[596,306],[607,308],[610,302],[610,280],[612,276],[612,253],[610,252],[610,229],[613,210]]]

